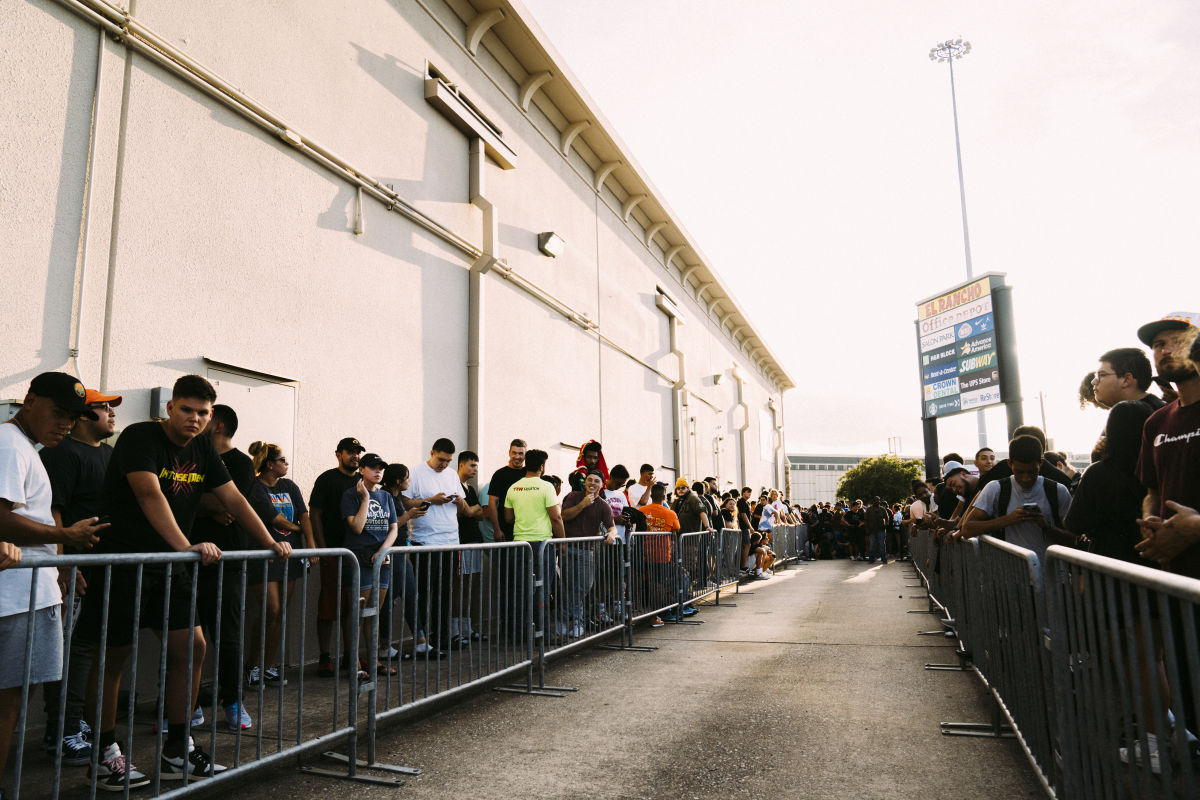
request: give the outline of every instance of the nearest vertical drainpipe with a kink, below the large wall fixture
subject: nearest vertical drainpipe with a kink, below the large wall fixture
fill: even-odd
[[[484,252],[470,265],[467,289],[467,447],[475,452],[482,452],[484,445],[484,279],[497,264],[496,241],[499,229],[496,207],[484,190],[486,167],[484,140],[476,137],[470,140],[470,204],[484,212]]]

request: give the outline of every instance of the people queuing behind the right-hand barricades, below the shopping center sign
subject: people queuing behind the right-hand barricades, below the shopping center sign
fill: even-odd
[[[984,449],[972,469],[958,453],[948,453],[940,481],[914,481],[907,524],[952,546],[990,535],[1039,558],[1051,545],[1061,545],[1200,579],[1198,333],[1200,314],[1174,312],[1138,330],[1153,365],[1135,347],[1099,355],[1086,391],[1081,387],[1081,402],[1106,410],[1108,419],[1086,469],[1075,470],[1063,453],[1049,450],[1043,431],[1022,426],[1013,432],[1007,458],[997,462]],[[1152,391],[1154,386],[1160,395]],[[1157,608],[1150,614],[1158,620]],[[1200,637],[1200,618],[1187,622],[1172,612],[1170,621],[1175,652],[1187,657],[1188,638]],[[1121,751],[1123,760],[1145,762],[1157,772],[1164,757],[1160,742],[1181,740],[1159,735],[1169,732],[1159,730],[1160,720],[1150,706],[1151,682],[1164,703],[1170,697],[1160,644],[1168,634],[1134,630],[1139,622],[1126,618],[1120,624],[1132,640],[1141,642],[1146,634],[1159,643],[1157,652],[1139,654],[1142,663],[1154,667],[1134,676],[1144,684],[1138,723],[1147,734],[1145,752],[1141,741]],[[1196,757],[1200,674],[1194,663],[1192,669],[1172,667],[1180,676],[1178,706],[1184,716],[1176,722],[1186,726],[1182,740],[1192,752],[1176,747],[1169,757]]]

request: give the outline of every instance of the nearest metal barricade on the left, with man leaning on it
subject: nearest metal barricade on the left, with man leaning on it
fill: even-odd
[[[341,563],[354,560],[354,555],[343,549],[298,549],[293,552],[293,564],[299,563],[299,559],[318,555]],[[292,584],[292,594],[299,594],[300,600],[293,601],[290,607],[287,602],[281,604],[281,619],[277,625],[278,639],[271,642],[271,650],[280,655],[277,662],[280,680],[270,687],[260,680],[253,690],[242,685],[244,667],[253,662],[257,662],[259,667],[268,666],[263,662],[263,654],[268,650],[269,644],[268,630],[269,626],[276,626],[272,624],[274,620],[268,619],[268,615],[263,613],[266,608],[266,593],[256,590],[253,587],[269,582],[268,570],[272,561],[274,554],[269,551],[226,552],[222,559],[211,566],[202,566],[200,558],[196,553],[127,553],[29,555],[18,566],[12,567],[17,571],[62,567],[67,577],[61,606],[62,609],[66,609],[62,628],[62,675],[66,685],[59,687],[56,708],[48,709],[47,724],[53,732],[56,732],[56,735],[52,735],[55,740],[55,748],[50,754],[49,763],[40,758],[26,758],[30,751],[28,740],[40,732],[40,726],[34,722],[29,706],[29,700],[34,696],[32,690],[36,687],[36,684],[29,682],[32,650],[26,649],[24,654],[6,650],[0,654],[0,657],[5,658],[24,656],[17,733],[10,756],[14,775],[11,796],[14,800],[20,798],[23,787],[25,796],[34,796],[30,794],[31,787],[37,787],[37,796],[58,798],[61,793],[74,795],[80,792],[86,793],[89,798],[96,796],[97,780],[90,776],[97,772],[98,747],[92,747],[90,764],[80,769],[78,778],[70,772],[64,772],[61,734],[68,721],[66,718],[68,697],[78,696],[82,690],[85,691],[85,687],[80,687],[76,682],[79,675],[78,664],[76,669],[72,669],[71,660],[72,657],[90,656],[96,662],[97,673],[101,676],[104,675],[109,658],[120,655],[119,650],[113,648],[121,646],[108,646],[108,643],[113,637],[125,638],[122,631],[128,631],[132,634],[132,640],[126,661],[125,685],[128,688],[127,692],[121,692],[118,699],[118,744],[130,763],[134,766],[140,764],[140,771],[150,778],[148,793],[144,793],[143,789],[134,789],[139,796],[173,798],[191,794],[194,790],[210,792],[282,760],[292,760],[316,751],[324,752],[335,746],[344,746],[348,751],[342,757],[342,760],[348,764],[348,771],[336,775],[364,780],[364,776],[356,775],[359,704],[355,698],[360,690],[356,673],[352,670],[346,678],[335,678],[331,684],[332,691],[328,688],[330,684],[320,684],[313,688],[314,681],[306,682],[305,651],[316,638],[307,631],[307,620],[312,615],[308,614],[311,593],[308,591],[310,578],[306,569],[293,567],[295,579]],[[100,614],[98,628],[92,627],[84,631],[76,624],[78,600],[84,594],[85,587],[84,582],[80,581],[80,570],[91,577],[88,588],[91,589],[92,596],[84,602],[95,602],[97,597],[102,600],[101,607],[97,609]],[[193,716],[193,709],[188,709],[185,717],[185,736],[192,736],[198,745],[208,750],[214,763],[227,768],[214,777],[193,778],[188,775],[164,775],[158,768],[162,763],[163,745],[167,738],[167,732],[163,730],[161,723],[168,716],[166,712],[167,643],[166,637],[156,633],[144,636],[157,636],[157,638],[143,638],[140,631],[144,627],[152,627],[156,631],[169,628],[168,620],[172,618],[175,619],[175,625],[180,625],[180,609],[178,606],[174,609],[170,606],[170,599],[179,597],[180,582],[185,587],[184,596],[187,599],[186,615],[184,615],[187,624],[179,630],[186,631],[188,626],[200,626],[204,628],[208,643],[205,658],[202,662],[199,687],[192,682],[192,672],[185,670],[186,694],[192,697],[194,691],[202,690],[202,702],[194,709],[196,715]],[[36,582],[32,583],[36,584]],[[340,588],[353,596],[358,593],[358,571],[347,571],[344,583],[340,582]],[[174,591],[176,593],[174,595],[173,584],[175,584]],[[120,585],[124,594],[132,591],[132,608],[119,607],[109,601],[114,585]],[[341,593],[338,594],[341,595]],[[227,604],[229,603],[235,604],[235,613],[228,613],[230,608]],[[299,608],[295,608],[296,604]],[[32,607],[35,607],[35,596],[31,590],[30,608]],[[253,608],[258,609],[257,614],[250,613]],[[290,627],[287,620],[289,614],[298,620],[293,621]],[[35,618],[30,615],[29,619],[30,628],[32,628]],[[233,633],[227,628],[230,620],[238,625],[238,630]],[[250,624],[251,621],[254,624]],[[34,637],[49,633],[37,630],[28,632]],[[54,633],[58,634],[58,631]],[[340,651],[341,643],[337,644]],[[355,631],[349,631],[348,645],[355,648],[356,644]],[[229,651],[230,646],[234,649],[233,652]],[[149,648],[157,649],[157,655],[152,660],[146,657]],[[288,664],[283,656],[293,648],[300,663]],[[182,660],[185,664],[196,660],[196,637],[188,636],[187,655]],[[148,666],[154,667],[150,679],[144,674]],[[227,676],[224,685],[221,682],[222,672]],[[229,675],[236,675],[234,679],[235,690],[228,686]],[[206,686],[206,682],[210,685]],[[306,704],[306,690],[310,698],[317,694],[326,702],[318,706],[312,703]],[[203,691],[210,691],[211,699],[204,700]],[[142,699],[143,692],[154,699]],[[232,694],[240,706],[253,711],[252,727],[248,730],[244,730],[240,724],[232,730],[222,726],[220,728],[221,735],[218,735],[217,722],[223,712],[218,699],[222,694],[227,698]],[[97,721],[104,699],[103,681],[101,680],[96,687],[95,703],[83,708],[83,715],[92,722],[91,740],[94,742],[97,740]],[[204,722],[199,722],[200,714],[205,717]],[[196,720],[194,723],[193,720]],[[71,720],[71,722],[76,721]],[[124,732],[121,732],[121,727],[125,728]],[[146,734],[148,728],[152,729],[154,733]],[[320,774],[319,770],[312,771]],[[328,774],[334,775],[334,772]],[[106,790],[112,792],[114,787],[107,787]],[[126,784],[116,787],[115,790],[124,790],[125,796],[128,796],[131,789]]]

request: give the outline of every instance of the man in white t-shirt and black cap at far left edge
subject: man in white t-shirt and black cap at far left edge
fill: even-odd
[[[96,534],[107,528],[96,517],[80,519],[70,528],[54,524],[50,512],[50,479],[35,445],[53,447],[71,433],[80,416],[95,420],[88,408],[86,390],[73,375],[46,372],[29,386],[17,414],[0,425],[0,549],[6,564],[24,555],[54,555],[58,545],[91,548]],[[20,548],[19,554],[12,547]],[[36,581],[30,608],[31,582]],[[62,620],[58,571],[53,567],[0,571],[0,775],[8,760],[13,727],[20,711],[25,682],[25,657],[31,657],[29,682],[44,684],[62,676]],[[26,640],[29,616],[34,636]],[[0,795],[4,792],[0,790]],[[7,795],[4,795],[7,796]]]

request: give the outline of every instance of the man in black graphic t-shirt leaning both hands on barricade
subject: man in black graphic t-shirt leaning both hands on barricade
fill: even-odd
[[[259,546],[275,551],[281,559],[292,554],[292,547],[271,537],[258,515],[229,481],[229,473],[212,440],[198,435],[209,421],[215,399],[216,391],[208,380],[199,375],[184,375],[175,381],[164,420],[137,422],[125,429],[113,449],[104,475],[104,503],[112,527],[101,535],[97,553],[192,552],[200,555],[202,564],[214,564],[221,558],[220,547],[212,542],[193,545],[187,540],[202,494],[204,489],[210,489]],[[136,594],[138,582],[134,567],[113,567],[108,593],[104,591],[104,570],[91,571],[88,576],[90,590],[84,599],[78,630],[80,634],[96,636],[107,610],[104,674],[98,676],[94,668],[92,681],[103,680],[101,717],[96,721],[97,747],[102,751],[102,760],[112,763],[113,748],[119,754],[118,691],[137,634],[133,630],[134,613],[140,602],[139,619],[143,625],[152,626],[161,622],[163,604],[169,600],[163,636],[167,644],[163,691],[168,726],[160,774],[166,780],[181,780],[185,774],[209,777],[224,768],[215,764],[187,735],[188,718],[199,692],[206,642],[200,628],[191,624],[191,581],[186,565],[175,567],[184,569],[170,570],[169,597],[164,596],[166,570],[145,569],[140,597]],[[109,595],[107,607],[106,594]],[[109,788],[118,789],[119,784]]]

